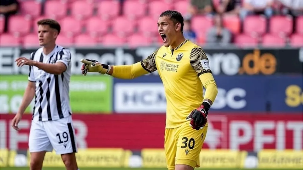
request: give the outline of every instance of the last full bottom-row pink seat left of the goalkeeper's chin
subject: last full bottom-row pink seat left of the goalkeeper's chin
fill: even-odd
[[[127,38],[127,41],[130,47],[150,46],[152,44],[151,37],[142,34],[133,34]]]

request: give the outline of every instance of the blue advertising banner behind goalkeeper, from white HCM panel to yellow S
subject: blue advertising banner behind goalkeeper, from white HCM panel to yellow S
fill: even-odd
[[[215,76],[218,95],[211,110],[303,111],[303,77]],[[165,113],[165,91],[160,77],[114,79],[116,113]]]

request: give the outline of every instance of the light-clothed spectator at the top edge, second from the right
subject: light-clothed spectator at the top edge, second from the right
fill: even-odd
[[[288,0],[289,1],[289,0]],[[264,14],[267,18],[270,18],[273,9],[273,0],[244,0],[243,8],[240,12],[241,19],[245,19],[247,15]]]

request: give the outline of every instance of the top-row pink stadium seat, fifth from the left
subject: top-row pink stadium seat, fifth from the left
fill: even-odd
[[[145,15],[147,5],[138,0],[126,0],[123,4],[123,14],[129,19],[137,19]]]

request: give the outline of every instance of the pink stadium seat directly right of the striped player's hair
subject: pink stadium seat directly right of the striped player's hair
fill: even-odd
[[[61,24],[61,32],[66,34],[72,33],[73,35],[77,35],[82,31],[82,24],[79,20],[73,17],[65,17],[60,20]]]

